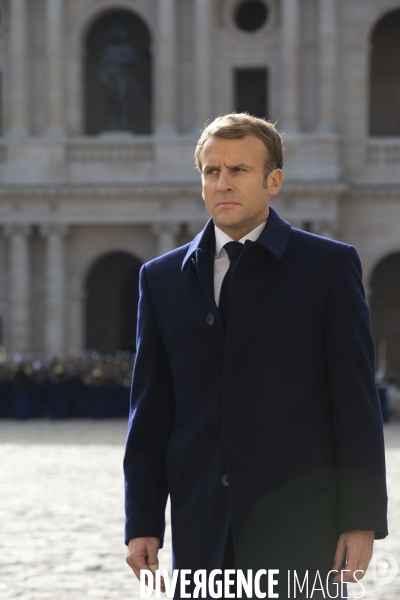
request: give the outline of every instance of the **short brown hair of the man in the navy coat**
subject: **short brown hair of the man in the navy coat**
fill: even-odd
[[[254,135],[264,143],[267,149],[264,166],[265,177],[267,177],[274,169],[282,169],[282,137],[275,125],[265,119],[253,117],[248,113],[231,113],[229,115],[217,117],[212,123],[204,128],[200,139],[197,142],[194,155],[196,166],[200,173],[202,170],[201,152],[204,144],[211,136],[232,140],[244,138],[246,135]]]

